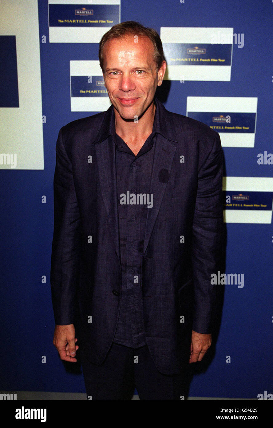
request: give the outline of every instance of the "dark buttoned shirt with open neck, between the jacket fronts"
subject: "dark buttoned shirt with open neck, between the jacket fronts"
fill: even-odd
[[[142,300],[142,258],[147,204],[120,204],[120,195],[127,192],[150,193],[150,178],[153,168],[153,156],[156,144],[158,109],[153,122],[153,132],[149,135],[135,156],[127,144],[115,133],[114,111],[111,119],[111,135],[115,143],[118,218],[121,258],[121,303],[114,342],[131,348],[146,344],[143,321]],[[138,126],[136,123],[135,126]],[[153,201],[153,199],[152,199]],[[144,202],[144,201],[143,201]],[[152,205],[152,204],[151,204]]]

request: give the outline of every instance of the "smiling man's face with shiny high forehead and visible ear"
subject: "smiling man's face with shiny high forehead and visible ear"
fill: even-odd
[[[103,47],[104,86],[123,119],[138,118],[153,101],[166,69],[164,61],[156,71],[154,46],[146,36],[108,40]]]

